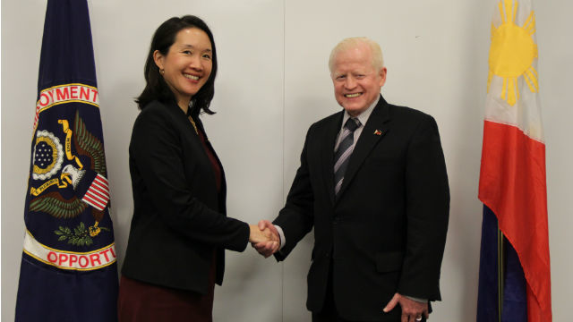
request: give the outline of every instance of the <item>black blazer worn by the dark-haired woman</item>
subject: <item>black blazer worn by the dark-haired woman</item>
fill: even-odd
[[[202,129],[199,119],[195,123]],[[154,101],[141,110],[133,124],[129,166],[134,208],[122,273],[206,293],[217,254],[221,284],[223,250],[243,251],[249,226],[226,216],[225,175],[218,192],[199,135],[175,103]]]

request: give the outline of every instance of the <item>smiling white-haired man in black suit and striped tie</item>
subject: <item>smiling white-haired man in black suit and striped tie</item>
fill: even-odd
[[[280,235],[280,250],[253,246],[283,260],[314,227],[313,322],[421,321],[440,301],[448,229],[438,127],[381,97],[387,70],[372,40],[342,40],[329,68],[344,111],[312,124],[285,208],[260,223]]]

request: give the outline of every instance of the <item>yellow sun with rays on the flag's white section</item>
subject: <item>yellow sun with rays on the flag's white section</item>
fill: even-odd
[[[492,45],[490,47],[490,72],[487,91],[490,92],[493,75],[503,79],[501,98],[514,106],[519,99],[517,79],[524,77],[529,89],[539,90],[537,71],[532,65],[537,58],[535,33],[535,13],[531,11],[523,27],[516,24],[517,0],[500,0],[501,24],[492,23]]]

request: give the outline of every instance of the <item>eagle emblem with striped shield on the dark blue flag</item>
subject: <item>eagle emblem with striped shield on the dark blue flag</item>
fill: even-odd
[[[78,110],[73,120],[73,129],[67,120],[60,119],[58,123],[62,125],[65,134],[64,146],[54,133],[38,131],[33,151],[32,176],[34,179],[47,180],[59,173],[59,177],[30,189],[31,195],[38,196],[30,200],[30,211],[44,212],[58,219],[70,219],[90,208],[93,225],[86,229],[86,225],[81,223],[73,231],[60,226],[54,232],[60,236],[58,241],[67,240],[76,246],[90,245],[92,237],[97,236],[102,229],[107,230],[106,227],[98,226],[109,204],[104,147],[88,131]],[[54,185],[58,189],[47,192],[47,188]],[[64,198],[61,190],[73,191],[71,198]]]

